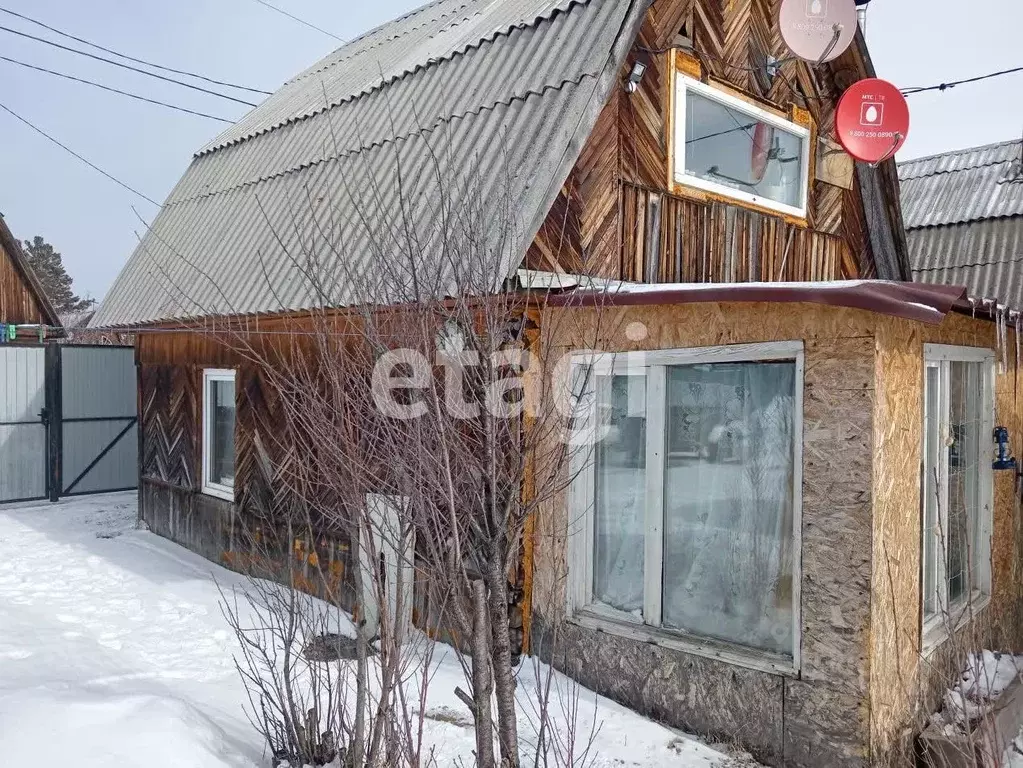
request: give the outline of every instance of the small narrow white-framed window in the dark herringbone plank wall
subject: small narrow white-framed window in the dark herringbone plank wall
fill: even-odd
[[[203,372],[203,492],[234,500],[234,371]]]

